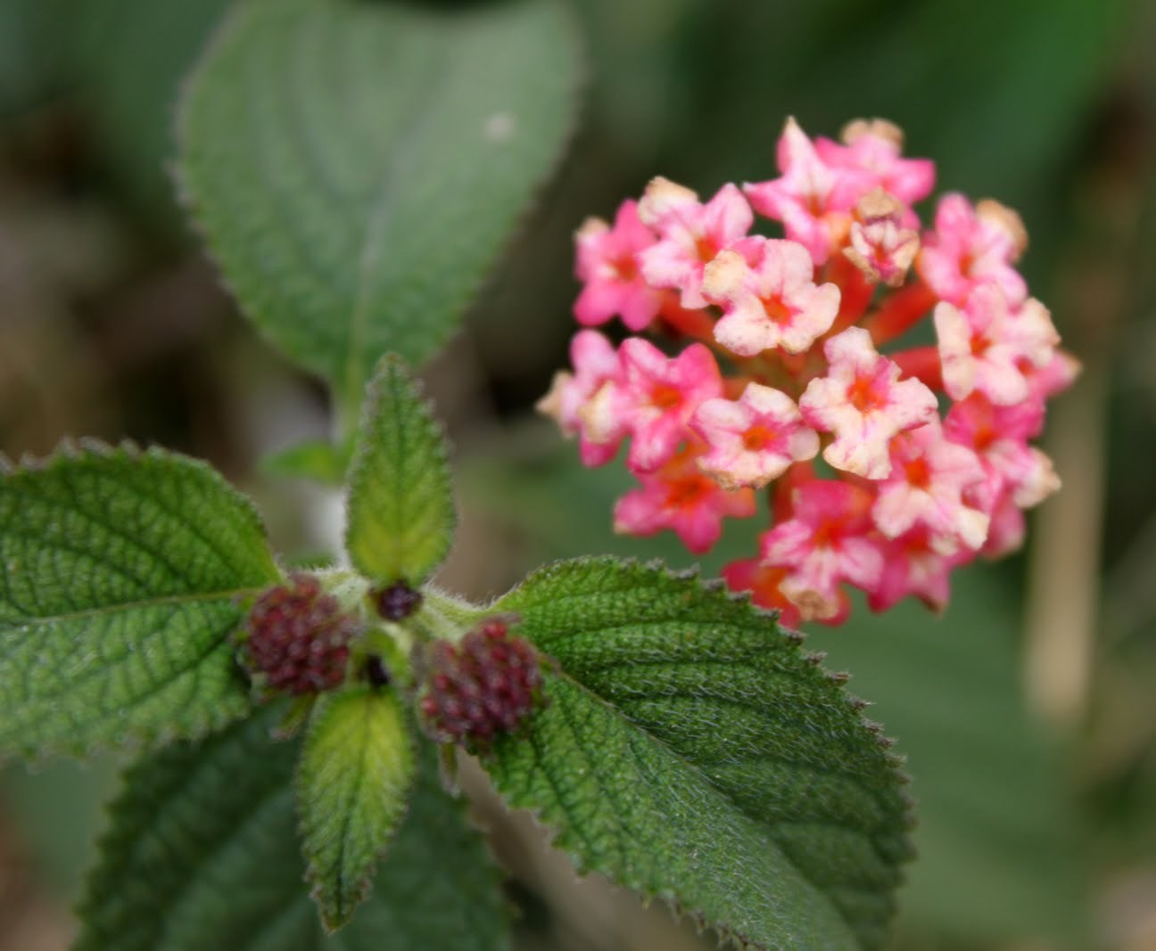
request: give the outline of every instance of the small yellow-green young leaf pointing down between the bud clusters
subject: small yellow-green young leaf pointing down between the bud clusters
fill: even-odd
[[[414,750],[398,698],[361,686],[318,701],[297,772],[307,876],[336,930],[369,892],[406,811]]]

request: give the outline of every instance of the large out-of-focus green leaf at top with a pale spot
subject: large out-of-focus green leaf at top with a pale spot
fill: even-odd
[[[360,398],[457,326],[575,116],[556,0],[242,2],[195,72],[179,172],[243,310]]]

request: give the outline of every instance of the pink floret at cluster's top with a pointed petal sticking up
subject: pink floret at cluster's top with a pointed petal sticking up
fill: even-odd
[[[832,223],[827,214],[839,173],[818,157],[793,117],[779,136],[777,162],[779,178],[748,183],[742,190],[756,211],[783,222],[787,237],[806,247],[816,266],[822,265],[836,244],[832,224],[833,230],[845,226],[845,222]]]

